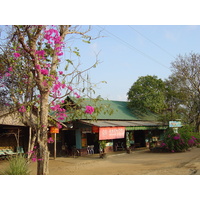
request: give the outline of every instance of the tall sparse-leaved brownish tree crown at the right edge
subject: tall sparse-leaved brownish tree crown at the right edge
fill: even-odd
[[[200,54],[179,55],[171,67],[172,74],[166,81],[168,103],[184,123],[200,132]]]

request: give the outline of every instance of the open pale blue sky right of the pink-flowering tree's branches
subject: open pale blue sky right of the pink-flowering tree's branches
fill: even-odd
[[[140,76],[168,78],[171,62],[179,54],[200,52],[200,26],[94,25],[91,35],[100,30],[104,37],[90,45],[78,40],[73,45],[79,47],[84,67],[91,66],[99,53],[101,63],[89,76],[93,83],[107,82],[94,89],[95,95],[110,100],[127,100],[127,92]]]

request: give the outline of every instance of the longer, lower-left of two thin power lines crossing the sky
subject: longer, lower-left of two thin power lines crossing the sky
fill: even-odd
[[[129,44],[128,42],[124,41],[123,39],[121,39],[120,37],[116,36],[115,34],[111,33],[110,31],[106,30],[105,28],[102,28],[101,26],[98,25],[98,27],[101,28],[102,31],[107,32],[108,34],[112,35],[113,37],[115,37],[117,40],[119,40],[120,42],[122,42],[124,45],[128,46],[130,49],[137,51],[138,53],[140,53],[141,55],[143,55],[144,57],[147,57],[148,59],[156,62],[159,65],[162,65],[163,67],[169,69],[169,67],[165,66],[164,64],[162,64],[161,62],[157,61],[156,59],[152,58],[151,56],[145,54],[144,52],[140,51],[139,49],[135,48],[133,45]]]

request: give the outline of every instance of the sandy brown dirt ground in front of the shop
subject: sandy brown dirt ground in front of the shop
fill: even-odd
[[[0,161],[0,171],[8,165]],[[30,164],[36,174],[36,163]],[[50,175],[200,175],[200,148],[182,153],[152,153],[148,149],[111,153],[100,159],[98,154],[78,158],[50,158]]]

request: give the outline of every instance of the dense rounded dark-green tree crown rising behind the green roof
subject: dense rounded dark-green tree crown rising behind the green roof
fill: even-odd
[[[128,94],[130,108],[161,113],[165,109],[165,84],[157,76],[143,76],[132,85]]]

